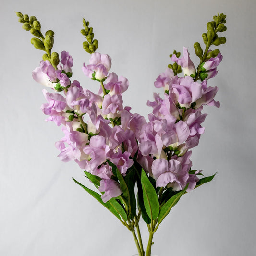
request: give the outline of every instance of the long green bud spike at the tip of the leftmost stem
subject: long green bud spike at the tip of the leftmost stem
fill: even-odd
[[[23,23],[22,28],[34,36],[31,39],[31,44],[34,45],[36,49],[43,50],[46,53],[43,55],[43,60],[50,61],[50,63],[56,67],[60,63],[59,54],[57,52],[51,53],[54,42],[54,32],[48,30],[45,33],[45,37],[41,32],[41,24],[35,16],[28,16],[27,14],[22,14],[21,12],[16,12],[19,18],[19,22]]]

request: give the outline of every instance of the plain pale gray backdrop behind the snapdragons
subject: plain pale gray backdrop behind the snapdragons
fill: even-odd
[[[111,71],[127,77],[124,105],[147,115],[153,83],[171,63],[173,49],[202,43],[206,23],[227,15],[223,61],[209,85],[219,86],[220,109],[206,107],[195,169],[211,183],[183,196],[160,225],[153,252],[159,256],[256,255],[256,22],[255,0],[1,0],[0,9],[0,255],[130,256],[132,234],[73,182],[86,183],[74,162],[63,163],[54,143],[63,136],[39,109],[43,86],[31,78],[42,52],[14,11],[35,15],[42,31],[55,31],[55,51],[73,56],[73,79],[98,91],[81,67],[82,17],[94,27],[98,51],[112,57]],[[223,34],[224,35],[224,34]],[[147,228],[142,227],[147,240]]]

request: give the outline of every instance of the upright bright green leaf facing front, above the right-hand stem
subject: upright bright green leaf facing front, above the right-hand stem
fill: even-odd
[[[151,220],[157,219],[159,214],[158,195],[143,169],[141,171],[141,184],[146,213]]]

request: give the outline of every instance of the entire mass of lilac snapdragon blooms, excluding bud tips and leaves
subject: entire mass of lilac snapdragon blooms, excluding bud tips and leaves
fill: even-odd
[[[219,54],[202,67],[216,69],[221,57]],[[122,93],[129,82],[109,73],[108,55],[93,53],[89,64],[82,68],[87,77],[100,83],[98,94],[84,89],[76,80],[71,82],[73,59],[68,52],[61,53],[63,66],[59,64],[55,69],[49,61],[41,61],[33,71],[37,82],[55,91],[64,90],[64,95],[44,90],[47,103],[41,108],[49,115],[48,121],[63,125],[65,136],[56,143],[61,160],[74,160],[81,169],[98,176],[104,202],[122,193],[110,162],[125,176],[136,161],[156,180],[157,187],[175,191],[183,190],[188,183],[190,191],[199,180],[196,174],[200,171],[191,172],[190,149],[198,145],[204,132],[203,105],[219,107],[214,100],[218,88],[207,86],[206,79],[194,81],[190,75],[194,74],[195,65],[186,48],[183,58],[173,55],[172,60],[181,64],[187,75],[178,77],[168,68],[158,76],[155,86],[164,87],[165,93],[163,98],[155,93],[155,100],[148,101],[147,105],[153,108],[149,122],[131,113],[130,107],[123,107]]]

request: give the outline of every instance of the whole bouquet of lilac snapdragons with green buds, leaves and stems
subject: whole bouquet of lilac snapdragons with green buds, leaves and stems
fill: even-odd
[[[94,189],[74,182],[132,232],[139,256],[150,256],[153,235],[171,208],[182,195],[214,178],[199,179],[202,170],[192,169],[190,157],[204,133],[201,124],[207,114],[202,114],[203,107],[219,108],[214,100],[218,88],[207,84],[217,75],[222,60],[219,49],[210,47],[226,42],[218,36],[226,31],[226,15],[218,14],[207,23],[207,33],[202,35],[204,50],[198,42],[194,44],[200,59],[197,67],[185,47],[183,57],[175,50],[170,55],[173,64],[154,82],[163,89],[163,96],[155,93],[154,100],[147,102],[153,109],[147,121],[123,106],[122,94],[129,82],[110,73],[111,58],[97,52],[98,40],[88,21],[83,19],[81,33],[85,36],[83,48],[91,57],[82,71],[98,84],[98,93],[71,80],[73,59],[67,51],[61,56],[52,52],[52,30],[43,35],[35,16],[16,14],[23,29],[34,36],[31,43],[45,52],[32,76],[51,89],[43,90],[47,103],[41,109],[49,115],[47,121],[62,127],[64,137],[55,144],[58,157],[79,165]],[[141,219],[148,226],[147,247],[142,243]]]

